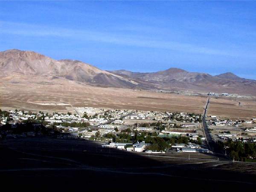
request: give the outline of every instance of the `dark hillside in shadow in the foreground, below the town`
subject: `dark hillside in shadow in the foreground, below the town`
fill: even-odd
[[[256,187],[253,163],[145,155],[89,141],[5,140],[0,153],[0,180],[8,191],[253,192]]]

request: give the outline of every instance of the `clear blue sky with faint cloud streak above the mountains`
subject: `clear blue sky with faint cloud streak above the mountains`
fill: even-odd
[[[0,51],[256,79],[253,1],[0,1]]]

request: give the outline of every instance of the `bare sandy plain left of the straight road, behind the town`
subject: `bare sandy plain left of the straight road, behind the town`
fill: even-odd
[[[7,78],[7,77],[6,77]],[[9,78],[9,77],[8,77]],[[68,107],[137,109],[203,113],[205,97],[182,96],[143,90],[96,87],[63,79],[33,79],[20,76],[0,83],[0,108],[31,111],[68,111]],[[68,105],[37,105],[36,102],[61,102]]]

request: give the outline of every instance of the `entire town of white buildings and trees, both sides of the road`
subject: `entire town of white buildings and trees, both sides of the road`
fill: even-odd
[[[93,107],[74,111],[73,114],[0,111],[0,139],[54,137],[98,142],[102,148],[142,153],[213,153],[205,137],[201,114]],[[220,147],[218,150],[225,149],[225,155],[230,142],[256,143],[255,118],[207,116],[206,122],[210,137]],[[230,156],[236,153],[229,149]],[[245,156],[246,160],[256,161],[252,154]],[[239,154],[236,158],[240,158]]]

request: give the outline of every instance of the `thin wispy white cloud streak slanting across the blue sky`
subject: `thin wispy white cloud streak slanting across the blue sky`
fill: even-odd
[[[102,43],[116,44],[122,46],[145,47],[153,49],[168,49],[182,52],[208,54],[208,55],[226,55],[239,56],[241,53],[201,47],[195,44],[186,44],[183,42],[163,41],[147,38],[141,35],[128,35],[124,33],[98,32],[93,30],[74,30],[57,28],[54,26],[41,26],[26,23],[14,23],[0,21],[0,34],[24,35],[24,36],[52,36],[60,38],[72,38],[79,41],[97,41]]]

